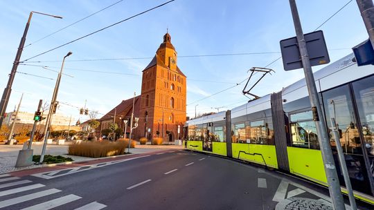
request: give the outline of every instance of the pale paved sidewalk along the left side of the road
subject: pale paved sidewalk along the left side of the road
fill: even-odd
[[[40,155],[42,153],[42,144],[33,144],[32,148],[34,155]],[[86,158],[80,156],[67,155],[68,145],[55,145],[48,144],[46,147],[46,155],[62,155],[66,158],[73,159],[74,162],[85,162],[90,160],[97,160],[98,158]],[[26,167],[15,167],[17,162],[18,152],[22,149],[22,145],[6,145],[0,144],[0,174],[8,173],[11,171],[20,171],[24,169],[34,169],[48,166],[42,165],[31,165]],[[136,148],[130,149],[132,154],[150,153],[153,151],[165,150],[165,149],[184,149],[183,146],[175,145],[136,145]],[[126,149],[127,151],[127,149]]]

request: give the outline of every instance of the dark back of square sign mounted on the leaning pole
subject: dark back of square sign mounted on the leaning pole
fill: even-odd
[[[326,41],[323,37],[322,30],[310,32],[304,35],[308,54],[310,58],[310,66],[318,66],[330,63]],[[283,39],[280,42],[281,53],[283,59],[283,67],[285,70],[294,70],[303,68],[299,51],[299,44],[296,37]]]

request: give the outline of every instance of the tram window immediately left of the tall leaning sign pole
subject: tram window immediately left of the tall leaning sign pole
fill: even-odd
[[[317,128],[312,120],[312,111],[290,115],[292,146],[319,149]]]

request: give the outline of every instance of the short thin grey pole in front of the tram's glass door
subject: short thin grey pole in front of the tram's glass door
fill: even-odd
[[[344,158],[343,149],[341,148],[339,132],[337,131],[337,123],[335,122],[335,118],[331,117],[331,126],[332,126],[332,133],[334,133],[335,142],[337,144],[337,152],[339,156],[339,162],[341,167],[341,172],[343,172],[344,182],[346,183],[347,191],[348,191],[348,198],[350,202],[350,207],[352,210],[357,210],[355,195],[353,195],[352,185],[350,184],[348,169],[346,165],[346,159]]]

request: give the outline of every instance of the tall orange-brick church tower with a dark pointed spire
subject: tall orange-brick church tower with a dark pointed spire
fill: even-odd
[[[177,51],[167,32],[156,55],[143,70],[137,129],[148,140],[162,137],[164,142],[171,142],[183,136],[184,122],[186,75],[177,66]]]

